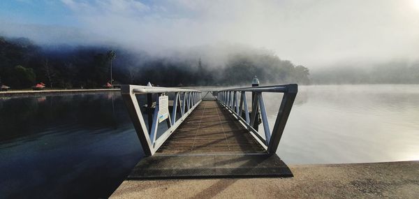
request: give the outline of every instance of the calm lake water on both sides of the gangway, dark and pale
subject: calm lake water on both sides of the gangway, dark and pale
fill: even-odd
[[[273,126],[281,94],[265,94]],[[288,164],[419,159],[419,85],[302,86]],[[106,198],[143,156],[119,93],[0,98],[0,198]]]

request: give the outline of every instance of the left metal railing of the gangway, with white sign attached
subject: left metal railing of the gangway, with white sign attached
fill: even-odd
[[[140,139],[142,149],[146,156],[152,156],[175,131],[175,129],[184,121],[186,117],[198,106],[201,102],[201,91],[193,89],[177,89],[167,87],[146,87],[135,85],[122,85],[122,98],[128,108],[128,114],[133,121],[135,131]],[[142,117],[140,104],[138,103],[137,94],[145,94],[147,96],[147,117],[148,126]],[[153,94],[155,100],[153,100]],[[166,94],[174,94],[172,112],[168,115],[166,124],[168,130],[162,133],[157,138],[157,130],[159,126],[159,97]],[[154,111],[152,111],[153,101],[155,101]],[[177,108],[179,108],[180,118],[176,119]]]

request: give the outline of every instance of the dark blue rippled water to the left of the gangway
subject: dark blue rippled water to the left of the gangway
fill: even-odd
[[[142,157],[115,94],[2,98],[0,196],[106,198]]]

